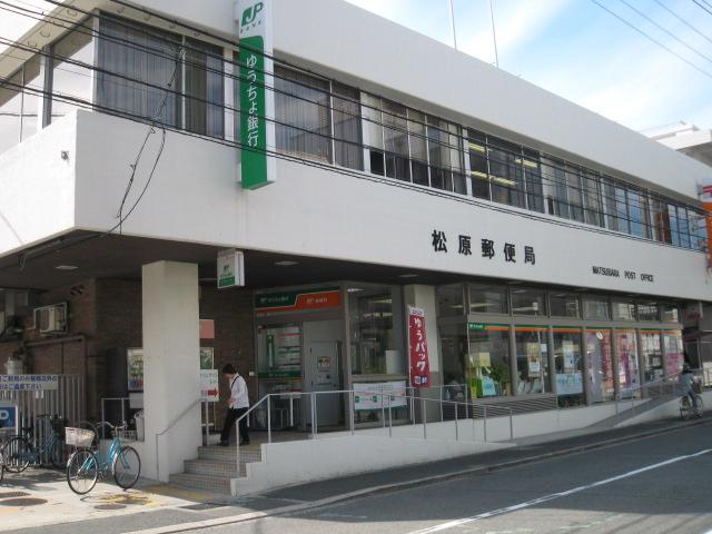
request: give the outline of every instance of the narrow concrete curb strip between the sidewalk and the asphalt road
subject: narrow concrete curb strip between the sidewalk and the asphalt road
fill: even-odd
[[[323,506],[337,504],[343,501],[349,501],[357,497],[376,495],[379,493],[390,492],[396,490],[407,490],[407,488],[421,486],[421,485],[437,484],[439,482],[446,482],[446,481],[452,481],[456,478],[464,478],[469,475],[493,473],[493,472],[506,469],[510,467],[516,467],[516,466],[526,465],[526,464],[534,464],[537,462],[544,462],[546,459],[551,459],[560,456],[567,456],[572,454],[583,453],[586,451],[594,451],[597,448],[605,448],[612,445],[619,445],[627,442],[635,442],[639,439],[645,439],[646,437],[652,437],[652,436],[657,436],[663,434],[671,434],[673,432],[683,431],[685,428],[690,428],[693,426],[703,426],[703,425],[712,425],[712,421],[700,419],[695,422],[685,422],[684,424],[676,424],[675,426],[656,428],[652,431],[641,432],[637,434],[631,434],[629,436],[605,439],[603,442],[595,442],[595,443],[590,443],[585,445],[578,445],[575,447],[563,448],[561,451],[538,454],[536,456],[526,456],[524,458],[513,459],[510,462],[502,462],[498,464],[473,467],[468,469],[458,471],[456,473],[451,472],[451,473],[444,473],[442,475],[416,478],[413,481],[395,482],[392,484],[383,484],[379,486],[365,487],[362,490],[356,490],[354,492],[334,495],[332,497],[322,498],[319,501],[314,501],[310,503],[293,504],[289,506],[281,506],[279,508],[273,508],[264,512],[250,512],[246,514],[231,515],[231,516],[219,517],[215,520],[204,520],[204,521],[197,521],[192,523],[182,523],[178,525],[168,525],[168,526],[159,526],[155,528],[140,530],[140,531],[131,531],[131,532],[127,532],[126,534],[176,534],[176,533],[187,532],[187,531],[245,523],[248,521],[261,520],[264,517],[274,517],[274,516],[285,515],[294,512],[305,512],[308,510],[319,508]]]

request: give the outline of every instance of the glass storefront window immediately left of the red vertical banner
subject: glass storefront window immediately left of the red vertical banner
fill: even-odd
[[[354,375],[406,373],[402,352],[404,319],[399,287],[349,288],[348,318]]]

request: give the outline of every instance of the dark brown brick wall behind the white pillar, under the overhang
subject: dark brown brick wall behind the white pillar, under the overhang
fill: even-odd
[[[87,416],[99,418],[102,397],[128,394],[126,387],[126,349],[142,346],[140,280],[86,280],[71,287],[43,293],[39,305],[67,301],[69,333],[47,338],[31,328],[26,329],[27,373],[81,374],[87,380]],[[257,379],[249,377],[255,369],[253,307],[249,290],[214,287],[200,288],[200,318],[215,320],[215,339],[200,345],[212,347],[215,367],[227,363],[237,366],[247,380],[250,399],[257,396]],[[31,317],[27,326],[32,326]],[[77,336],[83,342],[77,342]],[[50,342],[50,343],[47,343]],[[0,343],[0,373],[8,357],[21,346],[20,342]],[[196,359],[198,355],[196,355]],[[228,398],[228,384],[220,377],[220,396]],[[217,423],[221,425],[225,403],[217,406]]]

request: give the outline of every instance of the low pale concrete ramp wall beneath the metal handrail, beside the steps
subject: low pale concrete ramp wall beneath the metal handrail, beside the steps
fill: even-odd
[[[493,417],[486,422],[486,443],[485,422],[462,419],[428,423],[425,433],[423,425],[405,425],[357,431],[353,436],[328,433],[315,439],[263,444],[263,462],[248,464],[247,478],[233,479],[233,494],[503,449],[515,446],[505,443],[511,432],[520,438],[575,431],[614,415],[614,404],[602,404],[515,415],[512,422]]]

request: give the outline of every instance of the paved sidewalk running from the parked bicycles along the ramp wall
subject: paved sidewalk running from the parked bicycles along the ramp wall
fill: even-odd
[[[145,481],[129,492],[101,483],[91,494],[80,497],[71,493],[63,473],[29,471],[21,475],[6,474],[0,486],[0,532],[168,534],[189,526],[216,526],[304,511],[373,493],[486,473],[710,423],[712,416],[690,422],[666,419],[605,432],[574,431],[515,439],[516,447],[492,453],[314,482],[243,498]],[[22,495],[12,495],[17,493]]]

